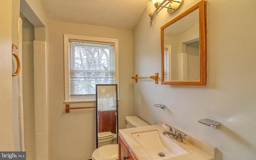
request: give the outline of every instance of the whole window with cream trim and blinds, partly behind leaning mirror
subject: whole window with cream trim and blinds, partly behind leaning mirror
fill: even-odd
[[[118,84],[118,40],[64,35],[65,102],[94,101],[96,84]]]

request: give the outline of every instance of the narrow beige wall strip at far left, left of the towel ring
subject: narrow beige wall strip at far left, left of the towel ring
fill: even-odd
[[[12,1],[0,1],[0,150],[14,150],[12,119]],[[4,15],[4,16],[2,16]]]

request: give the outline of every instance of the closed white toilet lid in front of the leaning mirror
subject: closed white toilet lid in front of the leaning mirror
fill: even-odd
[[[108,144],[101,146],[92,153],[94,160],[117,160],[118,144]]]

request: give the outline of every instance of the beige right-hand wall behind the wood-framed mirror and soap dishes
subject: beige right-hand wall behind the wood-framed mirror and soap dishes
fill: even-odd
[[[161,11],[152,27],[144,11],[134,29],[134,74],[161,72],[160,27],[196,2],[185,0],[174,14]],[[256,158],[256,1],[246,2],[208,0],[208,86],[134,83],[134,115],[150,124],[161,118],[205,140],[218,148],[218,160]],[[221,125],[202,125],[202,118]]]

